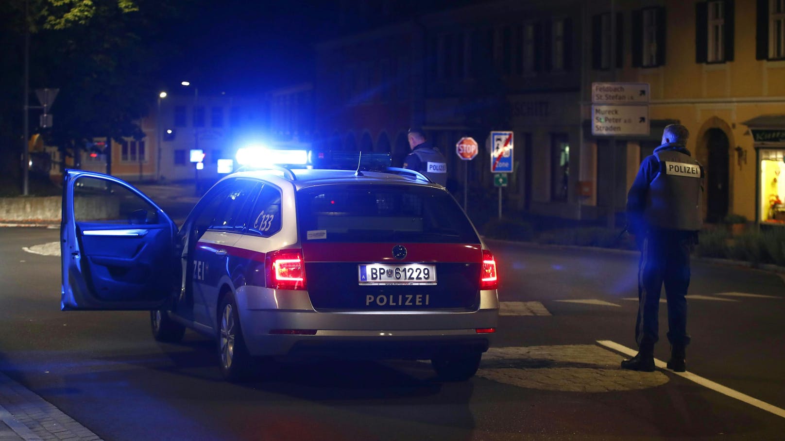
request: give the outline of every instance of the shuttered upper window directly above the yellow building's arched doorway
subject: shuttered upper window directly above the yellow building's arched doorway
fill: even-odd
[[[696,3],[695,27],[697,63],[725,63],[733,60],[732,0]]]

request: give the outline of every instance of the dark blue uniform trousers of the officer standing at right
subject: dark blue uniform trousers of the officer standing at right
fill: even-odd
[[[692,231],[648,231],[641,246],[638,268],[638,314],[635,341],[655,344],[659,340],[659,296],[665,285],[668,304],[668,341],[689,344],[687,334],[687,288]]]

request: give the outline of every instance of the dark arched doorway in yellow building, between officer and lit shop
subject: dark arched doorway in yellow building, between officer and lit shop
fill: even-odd
[[[706,164],[707,222],[720,222],[728,214],[730,173],[730,144],[721,129],[709,129],[706,133],[706,148],[709,162]]]

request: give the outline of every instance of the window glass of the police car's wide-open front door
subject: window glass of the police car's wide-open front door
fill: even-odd
[[[100,177],[74,183],[74,218],[91,224],[158,224],[155,206],[129,189]]]

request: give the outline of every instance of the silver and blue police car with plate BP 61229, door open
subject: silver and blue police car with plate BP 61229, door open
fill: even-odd
[[[203,333],[229,381],[323,356],[472,377],[498,279],[455,199],[412,170],[299,167],[228,175],[179,231],[130,184],[67,170],[61,308],[152,311],[159,341]]]

